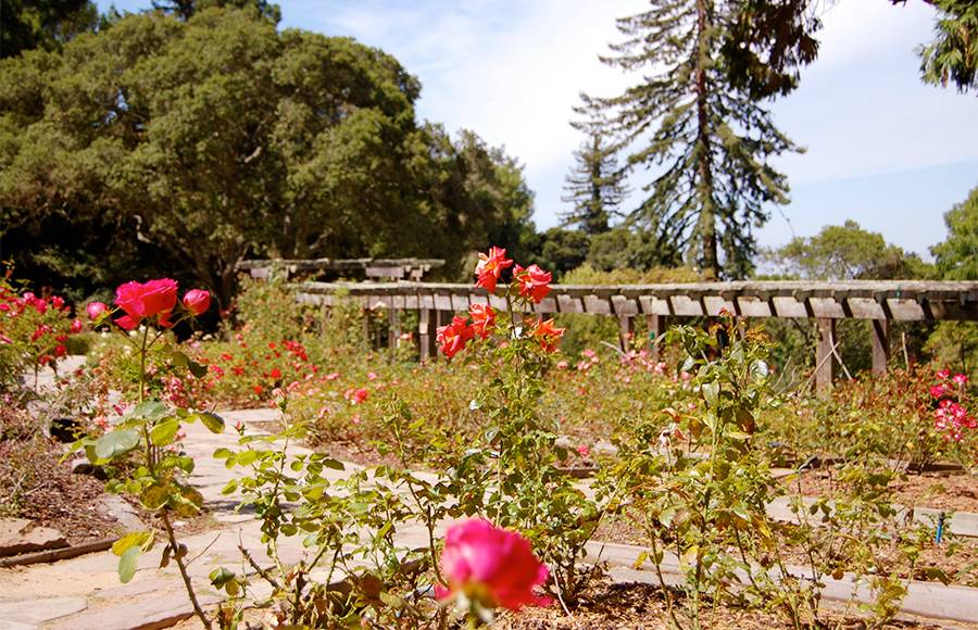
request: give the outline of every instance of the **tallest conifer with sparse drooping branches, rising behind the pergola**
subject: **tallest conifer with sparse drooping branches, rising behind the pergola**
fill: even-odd
[[[618,20],[625,36],[602,58],[642,81],[612,98],[585,97],[579,112],[626,152],[628,167],[656,168],[630,220],[650,230],[663,264],[685,257],[715,276],[743,277],[756,251],[764,204],[787,203],[788,182],[769,160],[798,148],[770,114],[730,84],[719,51],[738,16],[734,0],[650,0]],[[720,255],[723,252],[723,256]]]

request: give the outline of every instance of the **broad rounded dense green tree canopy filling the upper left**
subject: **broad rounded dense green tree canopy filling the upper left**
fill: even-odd
[[[88,261],[112,281],[104,257],[129,252],[227,300],[247,256],[451,267],[490,231],[517,238],[522,168],[474,134],[418,125],[419,89],[389,54],[278,32],[254,7],[128,15],[4,60],[2,253],[54,279]],[[76,245],[92,249],[62,260]]]

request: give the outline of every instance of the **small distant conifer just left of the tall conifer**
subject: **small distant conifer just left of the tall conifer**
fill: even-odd
[[[561,218],[565,226],[577,225],[588,235],[606,232],[611,215],[628,194],[624,173],[618,168],[614,151],[597,133],[581,143],[574,159],[576,164],[564,187],[568,194],[561,198],[572,203],[574,210]]]

